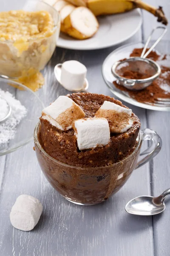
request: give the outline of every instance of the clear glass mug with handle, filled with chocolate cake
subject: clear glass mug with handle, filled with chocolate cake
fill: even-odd
[[[134,169],[159,153],[162,145],[161,138],[155,131],[140,130],[135,150],[120,162],[105,167],[82,168],[69,166],[49,156],[39,143],[39,128],[40,122],[34,131],[34,144],[42,172],[64,198],[81,205],[99,204],[110,198],[121,189]],[[149,140],[150,146],[140,153],[144,140]]]

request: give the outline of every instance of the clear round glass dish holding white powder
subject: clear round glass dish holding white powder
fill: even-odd
[[[35,125],[44,108],[37,94],[20,83],[0,78],[0,91],[1,90],[5,92],[8,91],[15,99],[18,99],[21,105],[26,108],[26,115],[16,126],[14,138],[9,140],[8,143],[0,143],[0,156],[15,151],[17,148],[26,145],[33,139]],[[8,103],[10,104],[10,102]]]

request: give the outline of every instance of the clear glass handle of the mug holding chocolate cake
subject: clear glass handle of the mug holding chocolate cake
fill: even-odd
[[[153,157],[155,157],[161,150],[162,140],[161,137],[149,128],[142,130],[142,140],[149,140],[150,145],[147,149],[139,154],[138,163],[136,164],[135,169],[141,167],[145,163],[149,162]]]

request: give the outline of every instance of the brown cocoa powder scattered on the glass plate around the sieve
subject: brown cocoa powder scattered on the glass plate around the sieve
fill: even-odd
[[[136,48],[133,49],[133,52],[130,54],[130,57],[140,56],[142,53],[143,48]],[[150,52],[147,58],[152,59],[153,61],[163,61],[167,59],[167,55],[164,55],[162,58],[156,52]],[[129,79],[140,79],[136,76],[139,74],[133,74],[133,72],[129,72],[127,78]],[[113,81],[113,84],[119,90],[128,92],[129,96],[135,99],[138,102],[142,103],[156,103],[159,99],[168,99],[170,98],[170,67],[162,66],[161,65],[161,75],[159,78],[153,81],[148,87],[143,90],[138,91],[131,91]]]

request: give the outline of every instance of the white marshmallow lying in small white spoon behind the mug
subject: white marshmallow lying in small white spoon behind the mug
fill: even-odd
[[[87,69],[79,61],[65,61],[61,67],[61,83],[67,90],[81,90]]]

